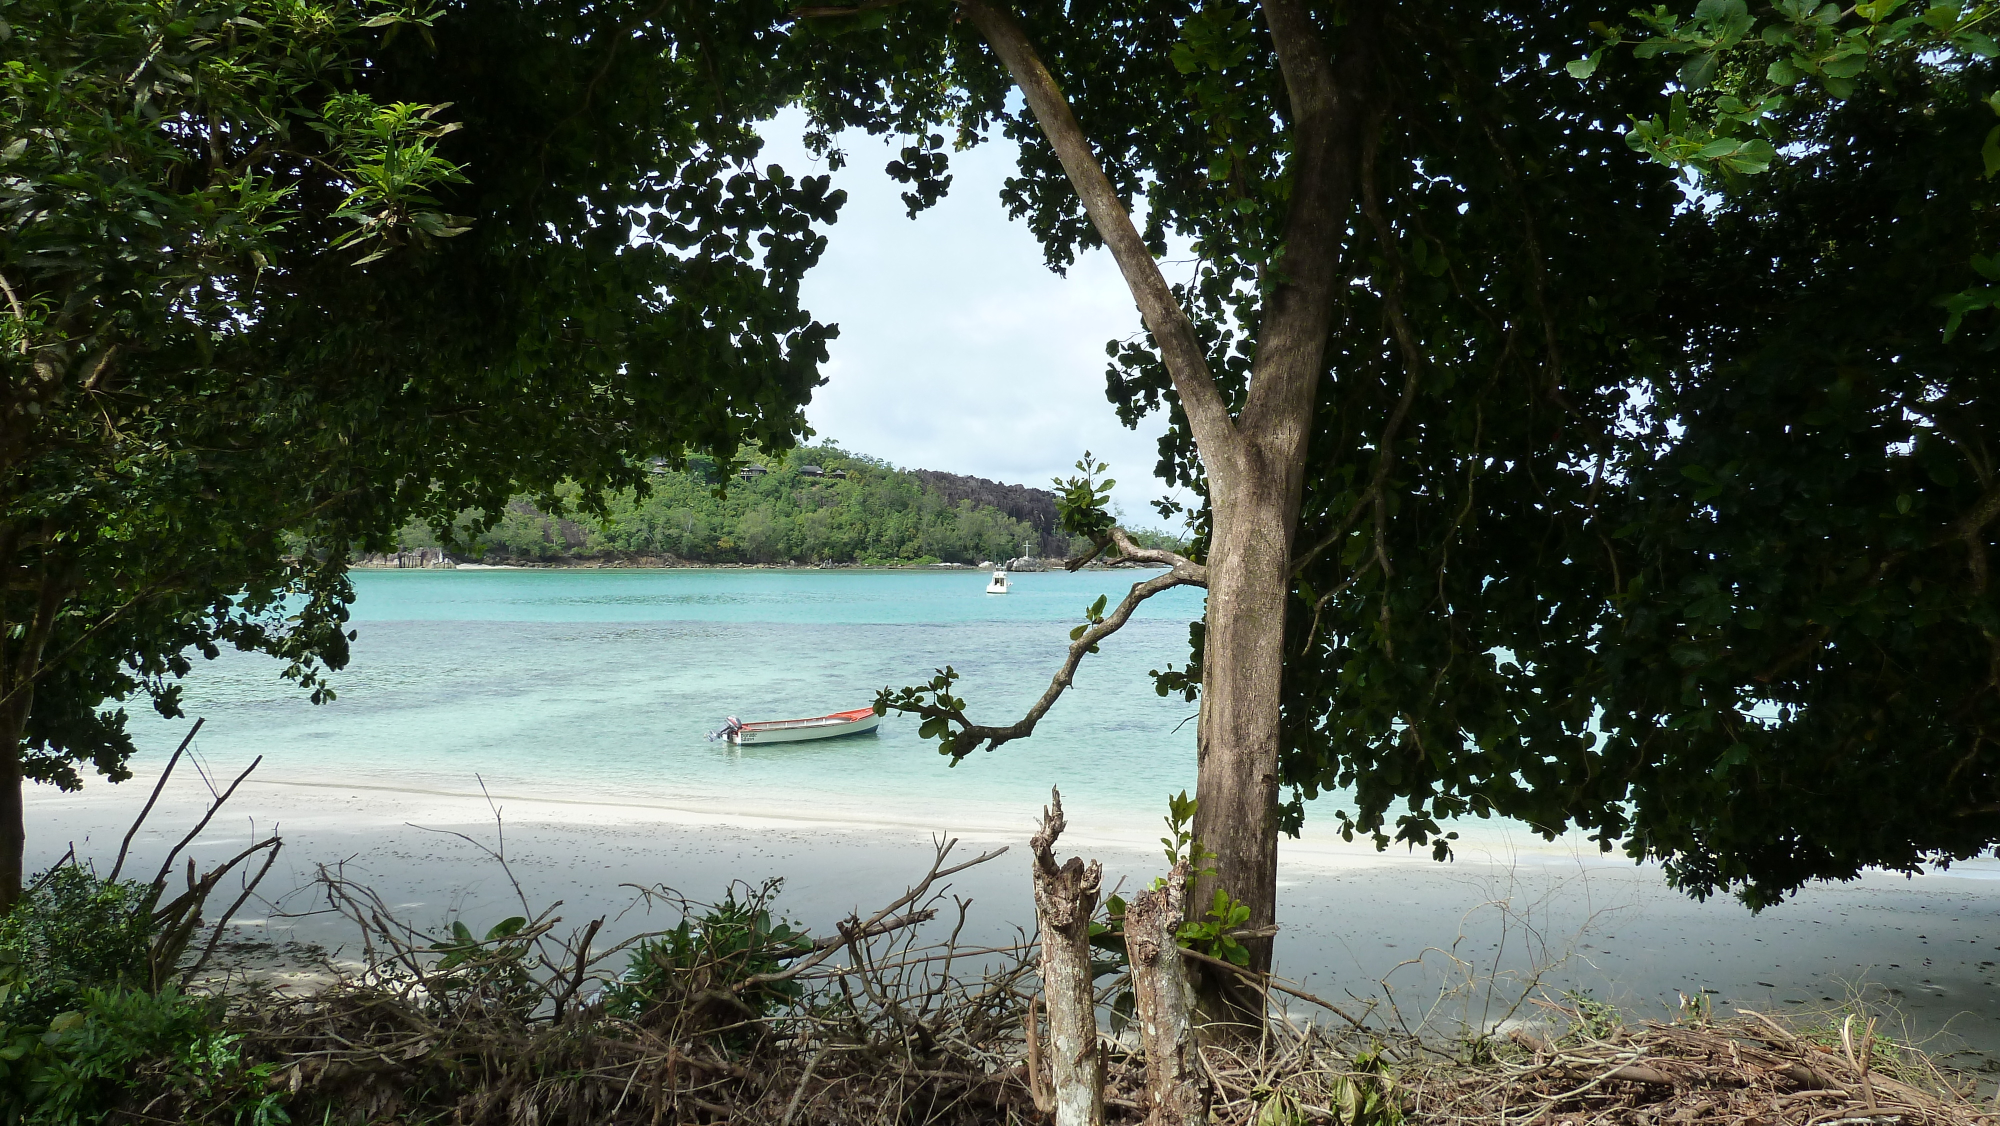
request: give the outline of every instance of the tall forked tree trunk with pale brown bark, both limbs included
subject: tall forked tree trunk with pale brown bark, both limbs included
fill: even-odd
[[[1084,212],[1118,262],[1200,450],[1212,534],[1194,834],[1216,854],[1218,870],[1196,884],[1192,914],[1206,914],[1222,888],[1250,908],[1250,926],[1262,930],[1276,920],[1278,898],[1278,692],[1292,532],[1312,404],[1344,292],[1340,260],[1360,174],[1382,6],[1358,6],[1338,36],[1338,58],[1328,52],[1304,0],[1260,0],[1260,8],[1290,102],[1292,200],[1284,250],[1270,264],[1284,280],[1262,310],[1250,388],[1232,416],[1208,368],[1202,336],[1160,274],[1034,42],[1004,6],[960,0],[960,10],[1020,86]],[[1248,946],[1252,968],[1268,970],[1270,938]],[[1204,992],[1220,996],[1228,988],[1212,974],[1202,980]]]

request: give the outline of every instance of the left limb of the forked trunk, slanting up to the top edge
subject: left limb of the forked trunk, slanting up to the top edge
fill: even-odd
[[[1054,74],[1042,64],[1042,56],[1012,16],[984,0],[960,0],[960,8],[980,34],[986,36],[994,54],[1008,68],[1008,74],[1014,76],[1014,84],[1020,86],[1028,102],[1028,110],[1042,126],[1042,136],[1056,150],[1070,186],[1076,188],[1084,212],[1118,262],[1118,272],[1124,274],[1126,286],[1132,290],[1132,300],[1138,302],[1138,312],[1146,320],[1146,328],[1160,342],[1160,358],[1174,380],[1174,392],[1180,394],[1180,408],[1188,414],[1188,428],[1194,432],[1196,446],[1206,456],[1220,456],[1234,450],[1236,424],[1230,420],[1230,408],[1222,402],[1222,392],[1216,390],[1216,382],[1208,372],[1208,354],[1194,334],[1194,322],[1188,320],[1186,310],[1174,300],[1174,292],[1160,274],[1160,264],[1152,260],[1146,240],[1132,226],[1132,216],[1126,212],[1124,200],[1118,198],[1110,176],[1104,174],[1104,166],[1098,164],[1096,154],[1090,150],[1090,138],[1076,124],[1076,114],[1070,112],[1070,102],[1062,96],[1062,88],[1056,86]]]

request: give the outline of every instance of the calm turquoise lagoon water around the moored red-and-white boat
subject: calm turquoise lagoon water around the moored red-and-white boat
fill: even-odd
[[[354,660],[314,706],[278,664],[226,654],[188,678],[218,766],[694,810],[1018,828],[1062,786],[1072,808],[1150,822],[1194,786],[1194,706],[1152,692],[1186,660],[1202,592],[1146,602],[1034,738],[946,768],[890,716],[880,734],[770,748],[708,742],[724,716],[816,716],[954,666],[968,712],[1012,722],[1070,628],[1148,572],[408,570],[356,572]],[[186,724],[146,724],[160,760]]]

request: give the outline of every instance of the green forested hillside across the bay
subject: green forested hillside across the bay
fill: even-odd
[[[704,456],[690,458],[686,470],[656,466],[652,494],[618,494],[612,518],[602,524],[550,518],[514,498],[492,530],[472,538],[472,548],[482,562],[860,566],[1008,560],[1022,554],[1024,544],[1060,558],[1070,548],[1062,532],[1016,520],[992,504],[954,500],[954,492],[924,480],[920,470],[900,470],[832,444],[750,466],[728,480]],[[950,480],[988,486],[994,496],[1040,500],[1054,512],[1054,498],[1044,490]],[[724,486],[722,496],[716,496],[718,486]],[[440,542],[428,526],[412,524],[404,528],[402,546],[436,548]]]

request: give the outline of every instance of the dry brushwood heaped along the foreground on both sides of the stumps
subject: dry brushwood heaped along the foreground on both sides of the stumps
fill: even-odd
[[[268,1082],[288,1096],[294,1120],[1060,1122],[1050,1068],[1036,1058],[1046,1028],[1024,950],[924,948],[882,928],[888,918],[874,922],[874,938],[870,920],[848,920],[842,956],[772,978],[754,954],[756,932],[786,938],[760,922],[760,892],[730,914],[708,912],[710,922],[688,932],[694,948],[628,948],[670,972],[626,976],[540,1016],[502,986],[508,972],[494,972],[512,960],[510,936],[498,936],[484,946],[502,952],[498,960],[446,970],[476,966],[456,978],[462,984],[426,968],[394,988],[348,982],[310,1000],[262,998],[238,1008],[236,1030],[274,1064]],[[734,934],[748,942],[736,944],[716,922],[724,918],[740,920]],[[944,966],[982,954],[1000,958],[976,980]],[[760,976],[762,988],[736,988]],[[1116,988],[1110,982],[1102,998]],[[1838,1026],[1790,1028],[1762,1014],[1620,1026],[1596,1006],[1544,1006],[1546,1036],[1470,1040],[1274,1012],[1260,1034],[1234,1028],[1200,1044],[1204,1114],[1244,1126],[1996,1122],[1970,1084],[1954,1086],[1920,1052],[1870,1038],[1854,1020],[1842,1046]],[[1120,1032],[1098,1042],[1100,1120],[1158,1122],[1134,1030]]]

